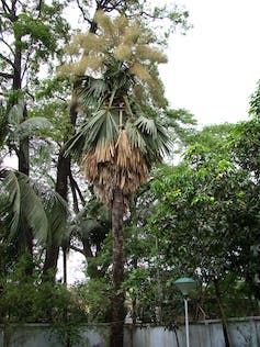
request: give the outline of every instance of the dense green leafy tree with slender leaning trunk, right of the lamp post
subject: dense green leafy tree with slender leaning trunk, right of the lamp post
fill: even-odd
[[[211,131],[216,134],[216,126]],[[230,291],[234,281],[251,278],[248,264],[256,261],[251,246],[259,237],[259,189],[231,161],[227,136],[215,143],[206,142],[206,134],[211,138],[203,131],[197,137],[203,145],[188,148],[182,164],[166,167],[154,181],[158,202],[149,225],[159,239],[160,267],[172,273],[179,269],[178,277],[199,269],[203,281],[211,283],[226,345],[231,346],[221,283],[225,281]]]

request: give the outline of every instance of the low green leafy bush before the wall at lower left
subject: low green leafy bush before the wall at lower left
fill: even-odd
[[[49,323],[66,346],[79,343],[80,326],[88,315],[77,291],[43,282],[38,270],[26,275],[26,267],[23,257],[12,271],[0,277],[0,323]]]

